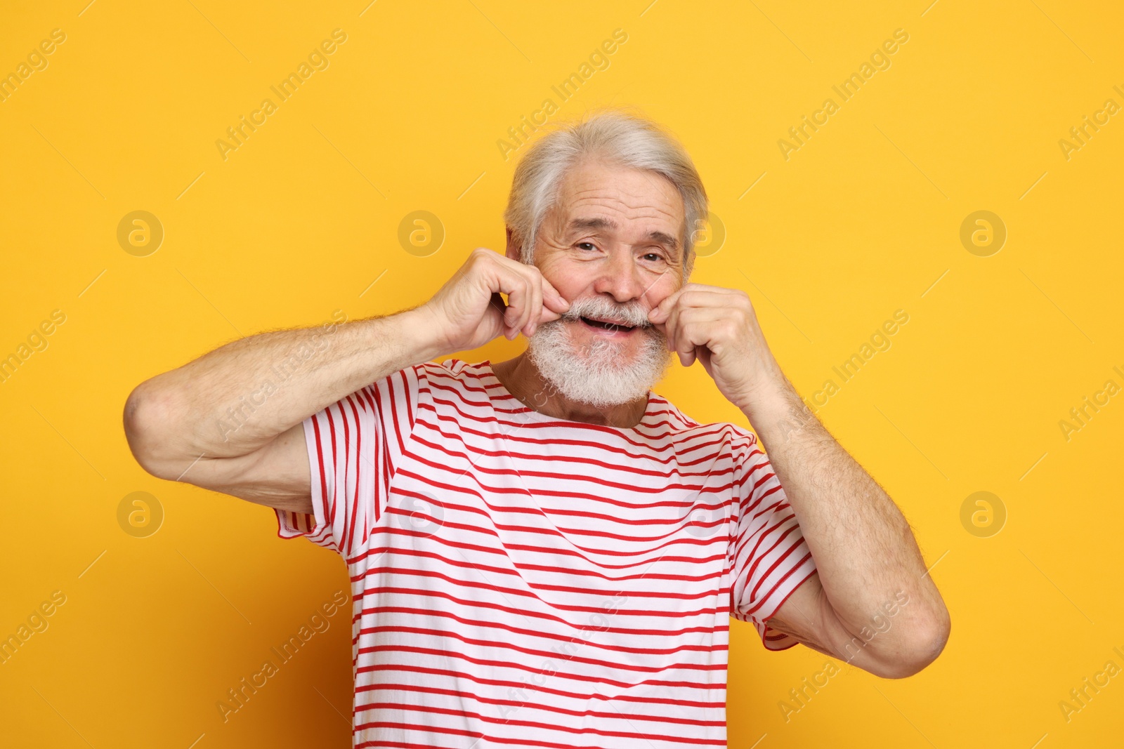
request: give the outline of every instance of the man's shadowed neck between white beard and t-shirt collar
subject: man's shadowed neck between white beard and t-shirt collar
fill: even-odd
[[[556,419],[632,429],[647,410],[647,395],[619,405],[596,407],[573,401],[547,382],[526,353],[492,364],[500,384],[528,409]]]

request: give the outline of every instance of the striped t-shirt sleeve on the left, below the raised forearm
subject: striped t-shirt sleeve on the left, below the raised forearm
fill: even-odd
[[[390,479],[428,392],[426,364],[399,369],[305,419],[312,514],[275,510],[280,538],[308,538],[345,559],[386,510]]]

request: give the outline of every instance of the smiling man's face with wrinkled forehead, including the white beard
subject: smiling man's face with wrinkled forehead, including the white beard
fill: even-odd
[[[647,312],[683,282],[682,227],[682,198],[658,174],[596,162],[569,172],[534,262],[570,310],[531,338],[532,356],[564,394],[622,403],[662,377],[671,353]],[[507,254],[519,259],[514,241]]]

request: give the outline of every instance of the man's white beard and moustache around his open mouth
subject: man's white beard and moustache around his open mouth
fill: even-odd
[[[625,347],[636,341],[595,339],[586,345],[572,340],[571,328],[584,326],[579,317],[614,317],[642,326],[631,336],[642,336],[632,362],[622,359]],[[663,380],[673,354],[667,337],[647,321],[647,312],[634,303],[620,307],[604,298],[572,302],[559,320],[538,326],[528,339],[527,353],[540,374],[565,398],[597,408],[619,405],[647,395]]]

